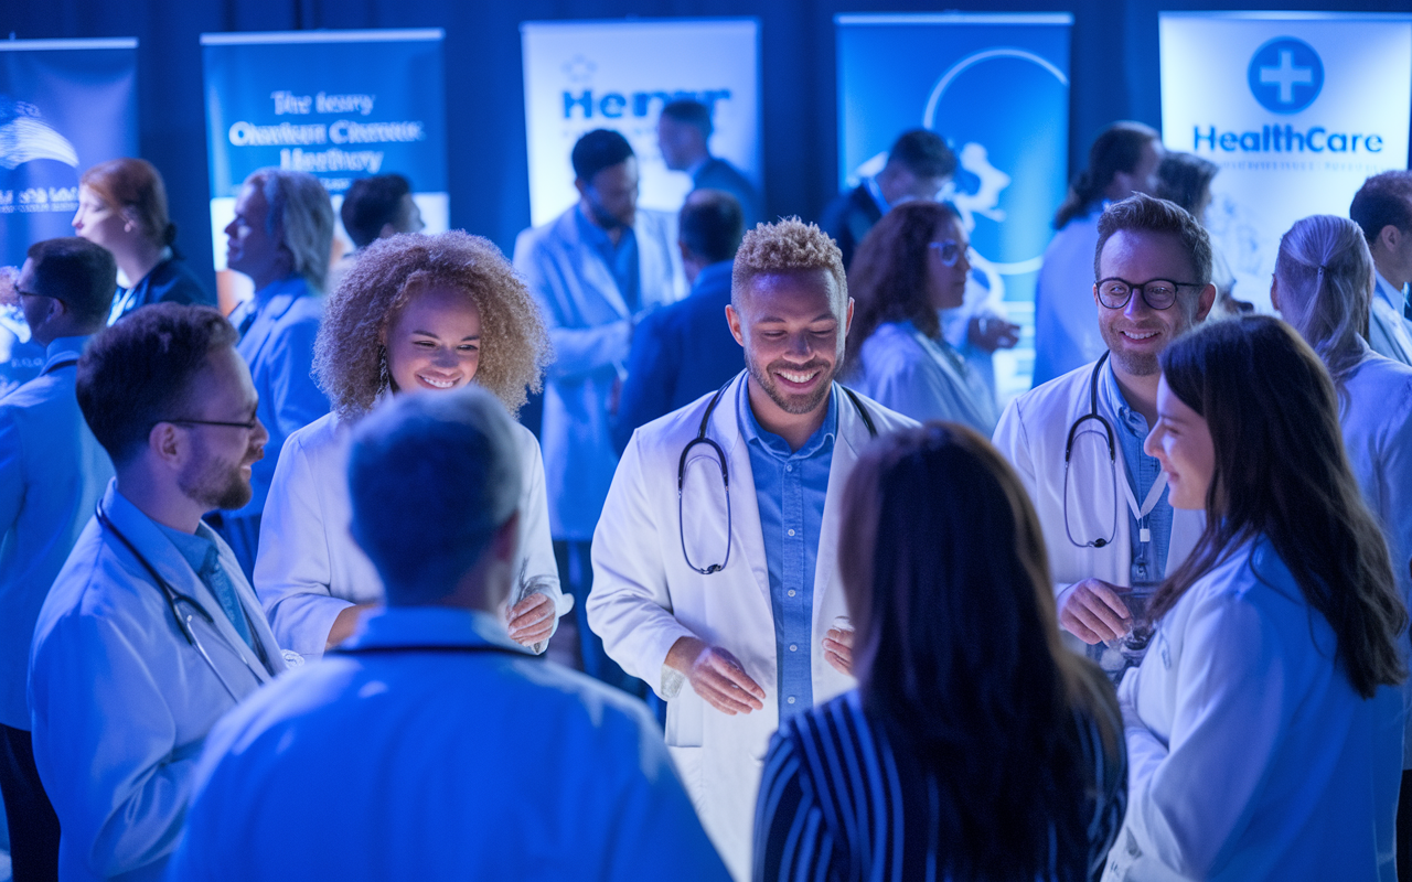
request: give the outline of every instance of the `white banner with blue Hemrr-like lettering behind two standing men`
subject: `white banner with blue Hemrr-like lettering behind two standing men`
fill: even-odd
[[[657,117],[676,99],[712,109],[712,154],[762,192],[757,20],[525,21],[520,34],[535,226],[578,202],[569,152],[594,128],[617,130],[633,145],[640,206],[678,210],[692,181],[669,171],[657,147]]]

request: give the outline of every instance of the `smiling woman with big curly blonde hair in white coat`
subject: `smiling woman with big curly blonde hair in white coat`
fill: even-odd
[[[369,246],[329,298],[315,344],[313,370],[333,412],[285,442],[264,509],[254,583],[281,646],[318,658],[383,600],[377,572],[349,535],[350,426],[387,395],[472,381],[514,413],[539,391],[548,358],[530,291],[487,240],[452,230]],[[541,652],[568,601],[549,542],[539,443],[517,429],[521,580],[505,618],[513,639]]]

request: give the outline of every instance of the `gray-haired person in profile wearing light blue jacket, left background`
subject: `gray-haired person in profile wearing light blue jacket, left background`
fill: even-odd
[[[220,532],[251,579],[260,515],[284,439],[329,412],[313,381],[313,340],[323,316],[333,206],[313,175],[263,168],[240,188],[226,240],[226,264],[256,286],[230,323],[240,332],[236,351],[250,366],[260,422],[270,430],[264,459],[251,466],[250,501],[220,516]]]

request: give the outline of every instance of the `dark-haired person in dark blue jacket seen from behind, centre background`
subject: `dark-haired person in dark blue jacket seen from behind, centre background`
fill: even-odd
[[[685,301],[650,313],[633,334],[613,446],[621,456],[633,432],[719,389],[746,360],[730,336],[730,271],[744,234],[740,202],[723,191],[693,191],[678,220]]]

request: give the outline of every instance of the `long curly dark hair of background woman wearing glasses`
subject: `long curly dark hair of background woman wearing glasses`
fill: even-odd
[[[856,312],[849,332],[849,357],[885,322],[912,322],[939,340],[942,320],[932,306],[928,253],[943,224],[960,216],[940,202],[904,202],[877,222],[858,243],[849,267]]]

